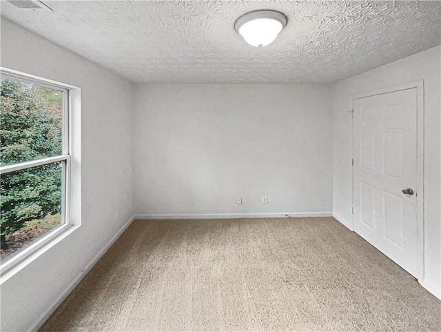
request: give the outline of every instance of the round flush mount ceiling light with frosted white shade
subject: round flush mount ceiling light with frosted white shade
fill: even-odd
[[[234,28],[249,45],[262,47],[272,43],[286,25],[284,14],[274,10],[256,10],[239,17]]]

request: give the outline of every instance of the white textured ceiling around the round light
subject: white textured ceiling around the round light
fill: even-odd
[[[441,43],[440,1],[45,1],[1,14],[135,82],[330,83]],[[234,22],[285,13],[265,48]]]

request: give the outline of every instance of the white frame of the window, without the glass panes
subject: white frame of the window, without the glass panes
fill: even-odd
[[[11,271],[13,268],[21,264],[23,261],[27,260],[34,254],[38,253],[43,248],[52,244],[55,239],[59,238],[61,234],[65,233],[68,229],[72,228],[71,220],[71,183],[72,183],[72,89],[74,87],[67,86],[54,81],[49,81],[47,79],[42,79],[40,77],[35,77],[32,75],[27,75],[22,72],[17,72],[15,70],[9,70],[0,67],[0,78],[8,79],[12,81],[19,81],[21,83],[33,84],[35,86],[40,86],[43,88],[50,88],[52,90],[57,90],[63,92],[62,101],[62,148],[61,155],[54,157],[46,157],[42,159],[32,160],[30,162],[22,162],[17,164],[11,164],[8,166],[0,167],[0,175],[12,173],[17,170],[23,170],[28,168],[34,168],[37,166],[42,166],[46,164],[53,164],[55,162],[61,162],[61,220],[60,224],[53,231],[37,237],[25,248],[20,248],[17,253],[12,253],[12,257],[8,259],[6,257],[4,260],[6,262],[0,262],[0,276],[3,276]]]

